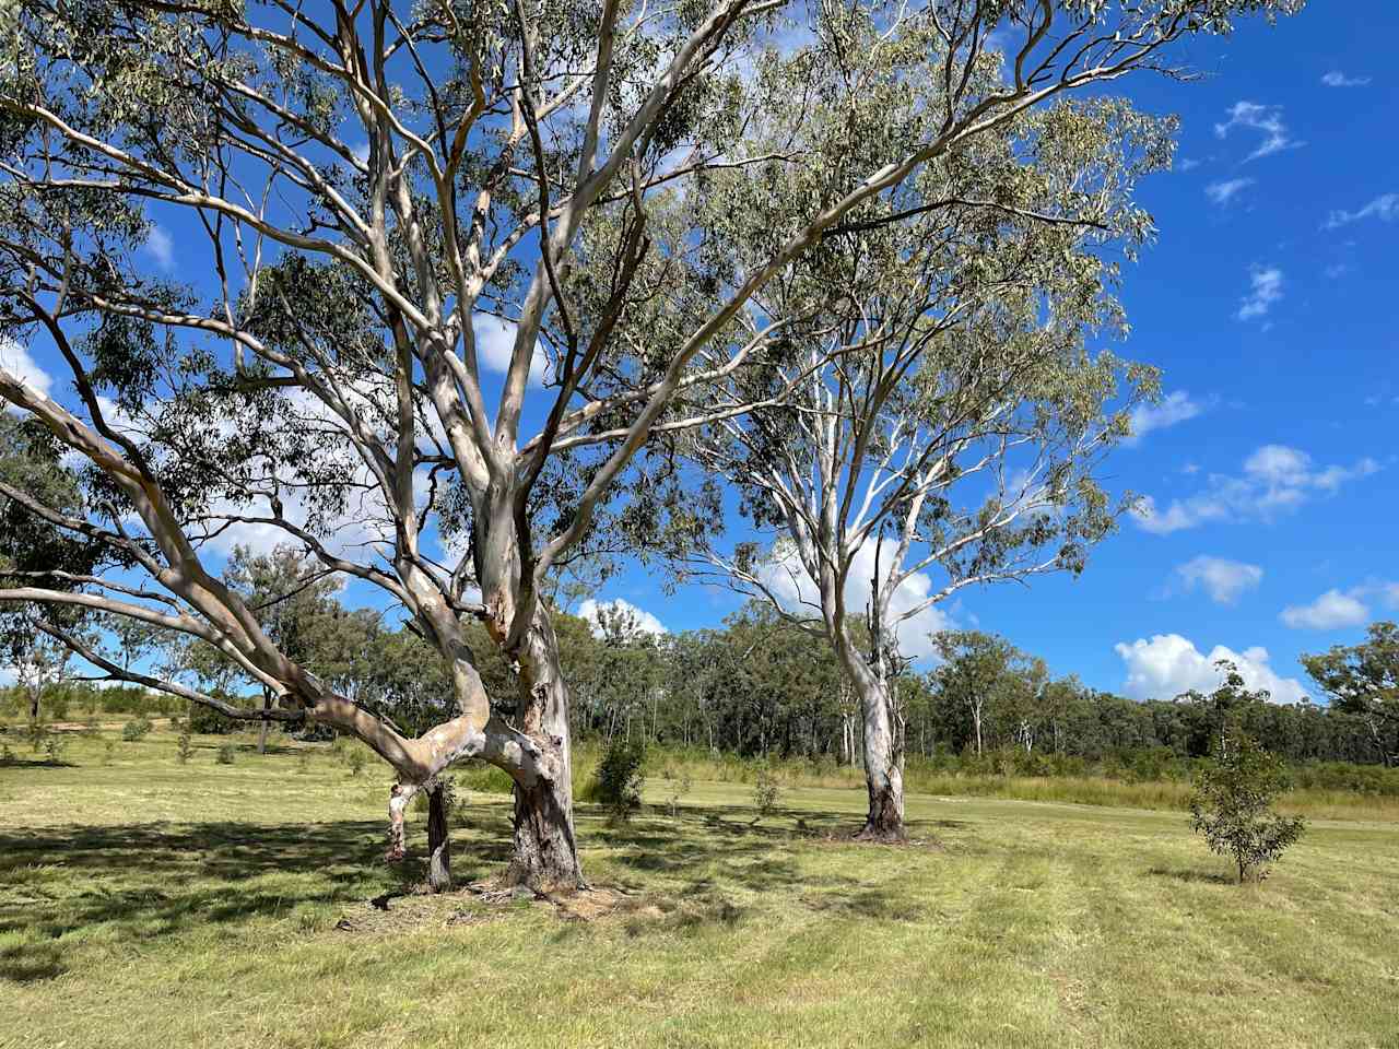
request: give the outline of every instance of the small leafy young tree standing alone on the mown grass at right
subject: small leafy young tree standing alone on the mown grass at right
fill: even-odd
[[[1191,827],[1205,835],[1212,852],[1233,856],[1241,884],[1260,881],[1265,864],[1302,835],[1301,817],[1272,810],[1286,789],[1283,761],[1238,732],[1220,740],[1213,759],[1196,776]]]

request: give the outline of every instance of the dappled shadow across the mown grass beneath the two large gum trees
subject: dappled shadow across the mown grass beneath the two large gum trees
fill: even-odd
[[[579,808],[585,853],[606,848],[627,871],[620,888],[665,901],[670,927],[732,925],[755,897],[842,916],[908,916],[863,864],[813,869],[799,855],[853,829],[848,815],[788,811],[753,822],[751,808],[679,807],[609,827],[600,811]],[[421,822],[411,834],[410,859],[389,867],[381,820],[0,831],[0,980],[60,976],[77,955],[74,941],[88,936],[134,943],[281,918],[302,905],[392,899],[425,877]],[[498,873],[511,853],[509,807],[467,807],[453,820],[452,842],[457,884]]]

